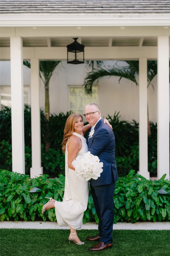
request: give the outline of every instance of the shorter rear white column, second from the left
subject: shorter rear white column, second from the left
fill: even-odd
[[[32,167],[30,177],[43,174],[41,167],[41,129],[40,129],[40,75],[39,60],[31,59],[31,143]]]

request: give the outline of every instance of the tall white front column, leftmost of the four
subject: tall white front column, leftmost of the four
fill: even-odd
[[[25,173],[22,38],[10,38],[12,171]]]

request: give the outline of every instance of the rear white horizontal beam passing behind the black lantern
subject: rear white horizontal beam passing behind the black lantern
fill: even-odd
[[[170,51],[169,51],[170,52]],[[23,47],[23,59],[66,60],[66,47]],[[85,60],[157,60],[157,46],[85,47]],[[10,47],[0,47],[0,60],[10,60]]]

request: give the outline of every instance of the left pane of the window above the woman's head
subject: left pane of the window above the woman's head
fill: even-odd
[[[83,88],[70,87],[70,110],[83,110]]]

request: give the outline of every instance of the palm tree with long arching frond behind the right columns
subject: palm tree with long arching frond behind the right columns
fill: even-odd
[[[139,85],[136,80],[136,75],[139,75],[139,61],[124,61],[128,66],[119,67],[116,64],[113,67],[108,67],[106,69],[99,67],[98,69],[92,69],[91,72],[87,73],[84,82],[84,89],[87,94],[92,94],[92,85],[93,83],[104,76],[119,76],[119,83],[121,78],[126,78],[136,85]],[[157,61],[149,60],[147,65],[147,77],[148,77],[148,86],[151,84],[152,79],[157,75]],[[153,84],[151,84],[153,87]],[[153,88],[154,89],[154,88]],[[151,134],[151,127],[149,122],[149,111],[148,111],[148,135]]]

